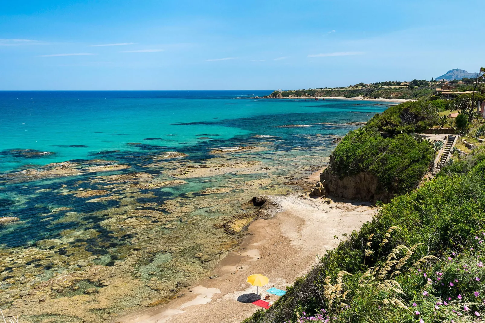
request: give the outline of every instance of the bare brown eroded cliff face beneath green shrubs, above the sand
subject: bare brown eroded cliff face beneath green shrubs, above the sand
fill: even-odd
[[[377,178],[367,172],[340,179],[327,168],[320,174],[320,182],[323,184],[326,194],[334,197],[388,203],[394,196],[386,192]]]

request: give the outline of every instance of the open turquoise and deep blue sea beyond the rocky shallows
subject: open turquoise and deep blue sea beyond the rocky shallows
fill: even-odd
[[[195,158],[210,147],[255,134],[281,136],[285,146],[297,145],[295,134],[344,135],[349,127],[331,125],[367,121],[388,104],[248,98],[271,92],[0,91],[0,172],[92,159],[104,151],[143,154],[154,146],[187,150]],[[285,125],[311,127],[278,127]]]

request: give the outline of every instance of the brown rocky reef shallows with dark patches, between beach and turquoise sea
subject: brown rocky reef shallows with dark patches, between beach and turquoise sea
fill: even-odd
[[[113,152],[1,175],[0,307],[22,322],[97,323],[168,303],[238,246],[264,195],[308,189],[334,144],[302,138],[312,145],[255,138],[205,160]]]

